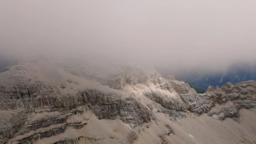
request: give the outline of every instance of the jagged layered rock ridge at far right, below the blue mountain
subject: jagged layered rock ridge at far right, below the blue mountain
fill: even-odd
[[[242,108],[255,108],[255,100],[256,81],[247,81],[236,85],[227,83],[221,88],[209,87],[205,94],[197,97],[195,104],[189,110],[202,114],[208,112],[215,104],[219,104],[220,110],[212,111],[209,115],[216,119],[224,120],[225,117],[239,117],[238,111]]]

